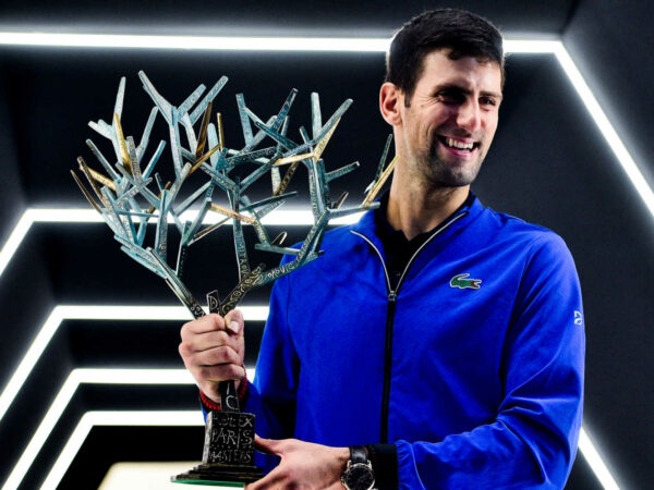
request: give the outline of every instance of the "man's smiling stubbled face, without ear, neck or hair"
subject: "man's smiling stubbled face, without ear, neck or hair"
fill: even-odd
[[[470,185],[488,152],[501,102],[497,63],[451,60],[448,49],[424,59],[410,100],[400,96],[400,150],[411,175],[434,187]],[[409,107],[405,105],[409,103]]]

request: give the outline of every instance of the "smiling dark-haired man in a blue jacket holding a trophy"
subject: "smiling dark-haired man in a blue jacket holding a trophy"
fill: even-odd
[[[564,487],[583,392],[574,265],[553,232],[470,192],[502,83],[486,21],[437,10],[405,24],[379,96],[390,191],[277,281],[255,382],[239,311],[183,327],[205,408],[218,380],[239,380],[269,438],[258,449],[281,457],[252,489]]]

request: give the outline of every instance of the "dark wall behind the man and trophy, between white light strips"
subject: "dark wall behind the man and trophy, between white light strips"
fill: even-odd
[[[319,1],[70,1],[57,7],[4,1],[0,32],[388,38],[401,22],[432,7],[471,9],[491,19],[510,39],[561,39],[652,187],[654,65],[647,60],[654,46],[649,25],[654,3],[647,0],[526,1],[519,7],[508,0],[362,1],[347,5]],[[372,179],[389,133],[377,110],[383,63],[384,56],[378,52],[0,46],[1,243],[27,208],[88,208],[69,169],[76,166],[80,155],[93,160],[84,140],[99,137],[87,122],[109,120],[123,75],[128,77],[125,112],[133,118],[128,124],[138,134],[149,111],[149,100],[137,81],[140,70],[172,100],[181,100],[201,83],[210,86],[228,75],[230,82],[217,99],[225,108],[228,138],[240,138],[234,120],[234,94],[240,91],[266,117],[278,110],[292,87],[300,90],[293,108],[300,119],[308,114],[311,91],[319,93],[325,114],[346,98],[354,99],[326,160],[334,167],[362,162],[356,174],[343,183],[358,195]],[[568,243],[584,291],[584,427],[623,488],[649,488],[654,481],[654,421],[650,416],[654,412],[654,216],[634,192],[555,57],[513,54],[507,75],[500,130],[474,189],[486,205],[549,226]],[[192,279],[198,292],[216,286],[226,290],[231,284],[229,274],[204,273],[205,265],[199,262],[191,266],[195,267]],[[227,284],[225,278],[229,278]],[[256,292],[245,304],[261,305],[265,299],[265,291]],[[35,223],[0,275],[0,390],[5,390],[52,308],[70,304],[177,305],[162,282],[120,253],[102,223]],[[177,354],[181,322],[64,320],[24,387],[0,415],[0,440],[11,441],[0,444],[0,481],[14,468],[73,368],[181,369]],[[249,333],[251,365],[262,327],[262,321],[253,321]],[[196,407],[191,385],[80,388],[22,488],[43,481],[71,430],[88,411]],[[94,430],[62,487],[85,488],[75,476],[97,486],[114,461],[198,458],[198,430]],[[121,442],[113,444],[119,449],[108,450],[116,441]],[[601,488],[581,456],[568,488]]]

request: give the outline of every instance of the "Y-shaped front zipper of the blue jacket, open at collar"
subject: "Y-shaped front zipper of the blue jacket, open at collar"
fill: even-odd
[[[439,235],[443,231],[445,231],[447,228],[449,228],[456,221],[463,218],[465,215],[468,215],[468,211],[461,212],[461,213],[452,217],[451,220],[449,220],[447,223],[445,223],[443,226],[440,226],[438,230],[436,230],[434,232],[434,234],[432,234],[432,236],[429,236],[427,240],[425,240],[425,242],[417,248],[417,250],[415,250],[415,253],[411,256],[411,258],[407,262],[407,267],[404,267],[404,270],[402,271],[402,274],[400,275],[400,279],[399,279],[395,290],[390,285],[390,277],[388,275],[388,269],[386,267],[386,262],[384,261],[384,256],[382,255],[382,252],[379,252],[377,246],[371,240],[368,240],[367,236],[361,234],[360,232],[352,231],[352,233],[354,233],[355,235],[359,235],[363,240],[365,240],[368,243],[368,245],[371,245],[373,250],[375,250],[375,253],[379,257],[379,260],[382,261],[382,268],[384,269],[384,274],[386,277],[386,291],[388,293],[388,296],[387,296],[388,306],[387,306],[387,310],[386,310],[386,338],[385,338],[385,345],[384,345],[384,388],[382,391],[382,419],[380,419],[382,427],[379,429],[379,442],[383,444],[388,443],[390,377],[391,377],[391,371],[392,371],[392,339],[393,339],[395,314],[396,314],[398,293],[400,291],[402,282],[404,281],[404,277],[407,275],[407,272],[411,268],[413,260],[415,260],[415,257],[417,257],[417,254],[420,254],[422,252],[422,249],[432,240],[434,240],[434,237]]]

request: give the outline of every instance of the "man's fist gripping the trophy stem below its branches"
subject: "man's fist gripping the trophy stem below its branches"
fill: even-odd
[[[220,401],[218,383],[245,377],[243,316],[239,310],[225,318],[210,314],[182,327],[179,346],[184,366],[199,389],[215,402]]]

